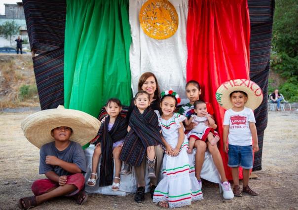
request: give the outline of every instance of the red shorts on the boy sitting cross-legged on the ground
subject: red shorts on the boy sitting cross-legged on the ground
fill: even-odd
[[[77,190],[74,192],[66,195],[66,196],[73,196],[81,191],[85,185],[85,177],[82,174],[74,174],[74,175],[67,175],[67,182],[66,184],[73,184],[76,186]],[[48,178],[37,179],[33,182],[31,189],[35,196],[42,195],[48,192],[52,188],[59,187],[59,183],[52,181]]]

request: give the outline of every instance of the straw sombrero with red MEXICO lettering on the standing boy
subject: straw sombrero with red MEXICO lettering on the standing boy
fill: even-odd
[[[224,108],[232,108],[230,93],[234,91],[243,91],[247,94],[246,107],[253,110],[258,108],[263,101],[263,93],[259,85],[247,79],[232,79],[224,82],[216,91],[215,97],[217,102]]]

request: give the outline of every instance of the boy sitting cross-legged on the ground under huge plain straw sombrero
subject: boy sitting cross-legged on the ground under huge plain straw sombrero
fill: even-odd
[[[22,122],[25,137],[40,148],[38,179],[32,184],[34,196],[21,198],[20,209],[30,209],[58,197],[73,197],[82,205],[87,200],[83,187],[86,159],[82,145],[92,140],[100,122],[91,115],[59,106],[36,112]]]

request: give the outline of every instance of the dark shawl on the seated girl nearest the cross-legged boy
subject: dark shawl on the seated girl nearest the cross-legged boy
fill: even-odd
[[[99,131],[101,137],[99,138],[98,142],[101,142],[102,150],[99,186],[112,185],[114,169],[112,146],[114,142],[123,140],[127,134],[127,122],[125,118],[119,115],[115,119],[111,131],[108,130],[109,122],[110,116],[106,118]]]

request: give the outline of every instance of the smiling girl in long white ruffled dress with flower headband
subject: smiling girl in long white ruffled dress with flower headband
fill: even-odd
[[[173,113],[180,98],[171,90],[167,93],[161,93],[162,115],[156,111],[166,154],[162,163],[163,178],[155,188],[153,202],[163,208],[177,208],[201,200],[203,195],[194,176],[194,161],[189,161],[186,153],[188,140],[182,123],[186,117]]]

